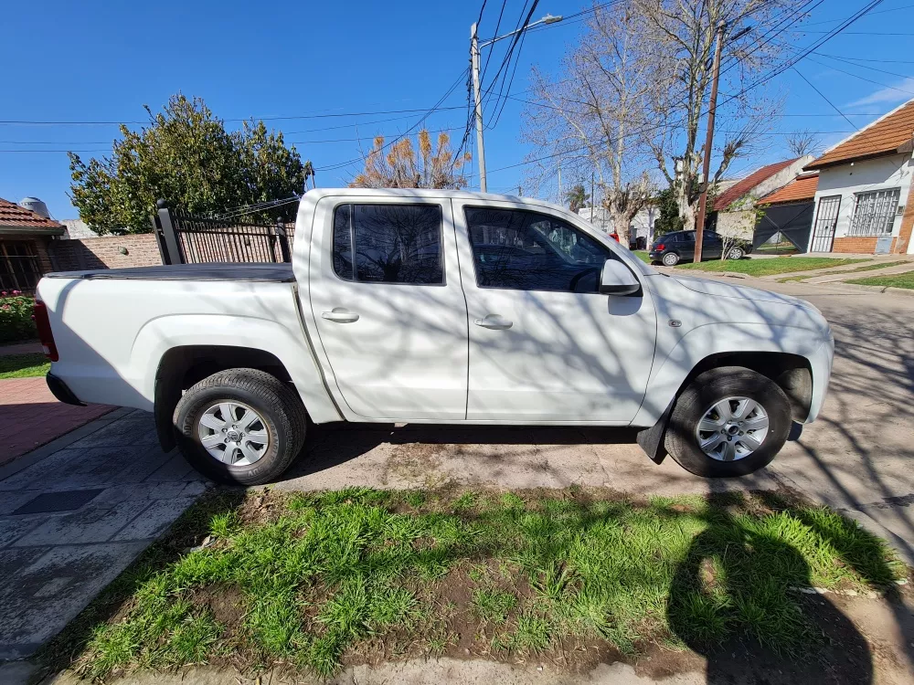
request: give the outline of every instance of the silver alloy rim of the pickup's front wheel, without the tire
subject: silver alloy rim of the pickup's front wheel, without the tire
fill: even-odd
[[[707,407],[695,429],[698,447],[717,461],[738,461],[755,453],[771,425],[765,407],[749,397],[725,397]]]

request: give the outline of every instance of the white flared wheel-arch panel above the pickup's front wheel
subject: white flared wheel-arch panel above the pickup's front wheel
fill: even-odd
[[[796,354],[809,361],[813,397],[809,423],[819,414],[831,377],[834,341],[831,334],[769,323],[708,323],[687,332],[664,360],[656,360],[644,401],[632,426],[654,426],[675,400],[688,374],[709,356],[720,353],[771,352]],[[659,354],[663,352],[658,350]],[[659,364],[658,364],[659,363]]]

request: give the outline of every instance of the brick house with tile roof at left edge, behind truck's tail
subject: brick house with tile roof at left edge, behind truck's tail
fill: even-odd
[[[57,221],[0,198],[0,290],[35,290],[53,270],[48,243],[63,231]]]

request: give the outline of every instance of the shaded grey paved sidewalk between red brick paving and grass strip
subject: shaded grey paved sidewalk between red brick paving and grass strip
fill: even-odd
[[[126,409],[0,468],[0,660],[55,636],[205,489]]]

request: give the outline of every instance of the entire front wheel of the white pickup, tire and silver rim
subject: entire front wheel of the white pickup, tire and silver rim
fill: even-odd
[[[676,399],[665,447],[697,476],[745,476],[771,463],[790,429],[790,401],[779,385],[742,366],[722,366],[698,375]]]

